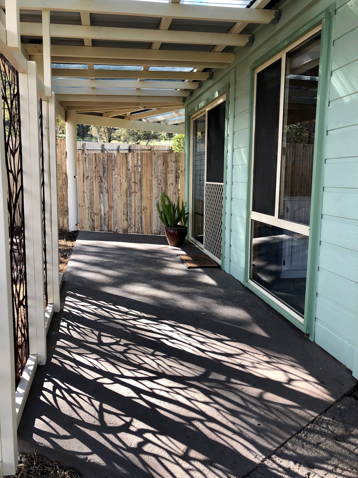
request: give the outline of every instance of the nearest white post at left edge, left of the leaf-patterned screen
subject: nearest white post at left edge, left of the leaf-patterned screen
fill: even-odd
[[[4,475],[14,475],[18,464],[15,356],[6,164],[2,127],[0,128],[0,271],[0,461],[2,461]]]

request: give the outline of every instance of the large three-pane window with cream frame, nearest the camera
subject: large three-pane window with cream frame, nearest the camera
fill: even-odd
[[[320,44],[317,28],[255,72],[249,281],[301,322]]]

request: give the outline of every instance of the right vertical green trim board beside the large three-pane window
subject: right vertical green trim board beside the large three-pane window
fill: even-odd
[[[322,18],[322,40],[317,92],[316,138],[313,157],[311,217],[308,241],[307,282],[305,297],[305,327],[311,340],[315,336],[318,256],[321,234],[323,173],[325,165],[329,86],[331,77],[335,4],[330,5]]]

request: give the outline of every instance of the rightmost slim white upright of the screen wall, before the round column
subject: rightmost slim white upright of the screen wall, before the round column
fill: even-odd
[[[53,310],[60,312],[60,267],[58,257],[57,164],[56,164],[56,98],[49,98],[49,145],[51,185],[51,231],[53,269]],[[76,146],[77,147],[77,146]]]

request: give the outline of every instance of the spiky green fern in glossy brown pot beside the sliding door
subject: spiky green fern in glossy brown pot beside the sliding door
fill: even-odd
[[[187,220],[188,213],[186,212],[186,204],[184,201],[179,205],[179,199],[177,204],[174,204],[171,199],[162,192],[160,195],[161,208],[159,202],[157,202],[157,210],[159,218],[165,226],[165,235],[168,239],[169,246],[180,247],[183,245],[187,236]]]

